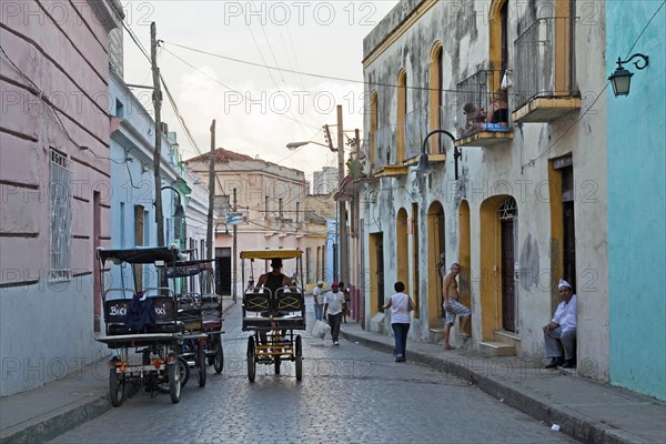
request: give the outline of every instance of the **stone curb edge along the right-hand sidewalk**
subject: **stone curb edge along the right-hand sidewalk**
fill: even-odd
[[[346,340],[357,342],[360,345],[381,352],[393,352],[393,346],[390,344],[357,336],[354,333],[341,331],[340,334]],[[565,434],[575,440],[591,444],[634,444],[643,442],[636,440],[636,437],[627,436],[627,434],[620,430],[609,427],[597,421],[583,420],[563,408],[551,406],[531,395],[508,387],[454,361],[433,357],[416,351],[410,351],[408,361],[427,365],[438,372],[457,376],[470,384],[476,385],[483,392],[494,396],[511,407],[516,408],[537,421],[542,421],[545,424],[558,424],[563,431],[566,431]]]

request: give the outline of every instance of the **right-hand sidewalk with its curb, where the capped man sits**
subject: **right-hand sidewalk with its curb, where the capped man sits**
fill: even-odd
[[[393,360],[393,336],[363,331],[349,321],[342,324],[341,335],[386,352],[386,360]],[[582,442],[666,443],[666,403],[579,377],[574,371],[544,370],[542,362],[515,356],[444,351],[441,344],[410,340],[406,356],[475,384],[538,421],[557,424],[559,433]]]

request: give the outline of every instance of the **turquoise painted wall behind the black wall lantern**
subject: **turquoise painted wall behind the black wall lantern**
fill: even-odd
[[[629,95],[615,98],[607,89],[610,383],[660,400],[666,398],[664,23],[662,1],[606,2],[607,72],[618,57],[649,57],[644,70],[625,65],[634,73]]]

